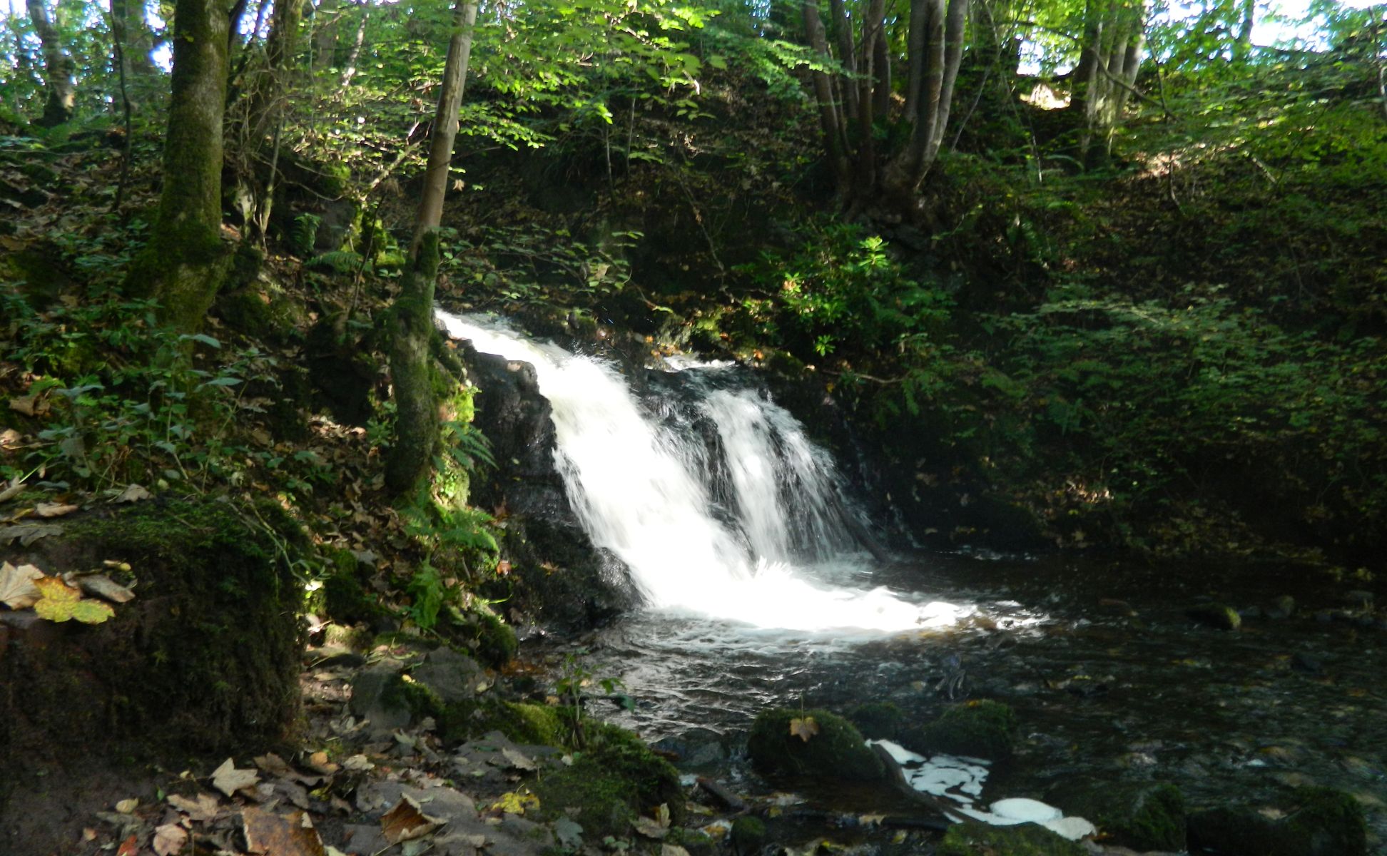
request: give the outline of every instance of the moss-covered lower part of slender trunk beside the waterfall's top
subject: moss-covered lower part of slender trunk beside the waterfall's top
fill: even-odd
[[[430,343],[434,277],[438,275],[438,230],[419,240],[413,265],[390,312],[390,382],[395,401],[395,443],[386,458],[386,490],[412,493],[430,472],[438,444],[438,394]]]

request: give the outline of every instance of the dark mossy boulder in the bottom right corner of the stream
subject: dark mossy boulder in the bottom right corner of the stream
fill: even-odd
[[[1334,788],[1297,788],[1287,814],[1272,820],[1258,806],[1225,806],[1190,814],[1190,844],[1226,856],[1365,856],[1363,809]]]

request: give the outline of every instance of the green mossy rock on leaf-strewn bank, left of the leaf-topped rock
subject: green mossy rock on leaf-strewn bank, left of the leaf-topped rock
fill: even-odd
[[[662,805],[675,825],[687,816],[678,773],[638,739],[589,745],[573,766],[535,782],[534,794],[545,817],[571,817],[596,839],[630,835],[634,819]]]

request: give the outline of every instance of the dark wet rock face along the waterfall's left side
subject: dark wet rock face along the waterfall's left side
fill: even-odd
[[[592,547],[553,466],[549,401],[534,366],[463,348],[479,387],[474,425],[491,441],[494,469],[473,474],[472,502],[508,513],[503,549],[515,567],[494,597],[549,630],[602,626],[637,602],[620,563]]]

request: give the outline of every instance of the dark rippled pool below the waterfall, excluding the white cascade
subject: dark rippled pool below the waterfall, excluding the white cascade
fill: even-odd
[[[589,667],[624,678],[639,705],[613,719],[648,738],[707,728],[734,745],[767,705],[893,701],[928,720],[953,688],[1022,723],[985,802],[1076,777],[1171,781],[1193,805],[1320,784],[1363,799],[1370,846],[1387,842],[1387,622],[1351,595],[1377,585],[1383,604],[1380,584],[1287,566],[935,555],[874,581],[978,615],[875,638],[631,616],[589,641]],[[1294,615],[1266,617],[1277,595],[1295,598]],[[1207,601],[1247,612],[1241,628],[1187,615]],[[723,773],[756,785],[735,756]]]

